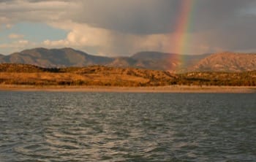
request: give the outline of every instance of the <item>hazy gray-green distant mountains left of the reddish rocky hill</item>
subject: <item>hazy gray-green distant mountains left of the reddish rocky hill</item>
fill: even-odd
[[[171,70],[178,66],[192,65],[206,55],[181,55],[158,52],[140,52],[130,57],[109,58],[89,55],[72,48],[46,49],[34,48],[20,53],[0,56],[0,63],[24,63],[42,67],[69,67],[104,65],[113,67],[135,67],[142,69]],[[183,64],[182,64],[183,63]],[[184,67],[186,68],[186,67]]]

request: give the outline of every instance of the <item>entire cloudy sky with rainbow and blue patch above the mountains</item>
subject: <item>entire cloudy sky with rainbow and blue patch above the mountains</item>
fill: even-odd
[[[0,53],[256,52],[255,0],[0,0]]]

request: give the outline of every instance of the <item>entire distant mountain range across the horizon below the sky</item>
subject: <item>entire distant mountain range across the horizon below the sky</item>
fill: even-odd
[[[245,72],[256,70],[256,53],[178,55],[140,52],[129,57],[90,55],[72,48],[34,48],[10,55],[0,54],[0,63],[24,63],[41,67],[103,65],[157,69],[169,72]]]

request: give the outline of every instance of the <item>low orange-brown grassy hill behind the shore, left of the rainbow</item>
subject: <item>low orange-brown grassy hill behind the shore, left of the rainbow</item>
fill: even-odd
[[[0,84],[4,85],[168,85],[175,79],[169,72],[108,66],[68,67],[60,69],[4,63],[0,64]]]

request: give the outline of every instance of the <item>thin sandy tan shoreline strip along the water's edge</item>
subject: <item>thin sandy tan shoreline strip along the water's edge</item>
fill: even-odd
[[[256,86],[169,85],[156,87],[0,85],[0,91],[119,92],[119,93],[256,93]]]

